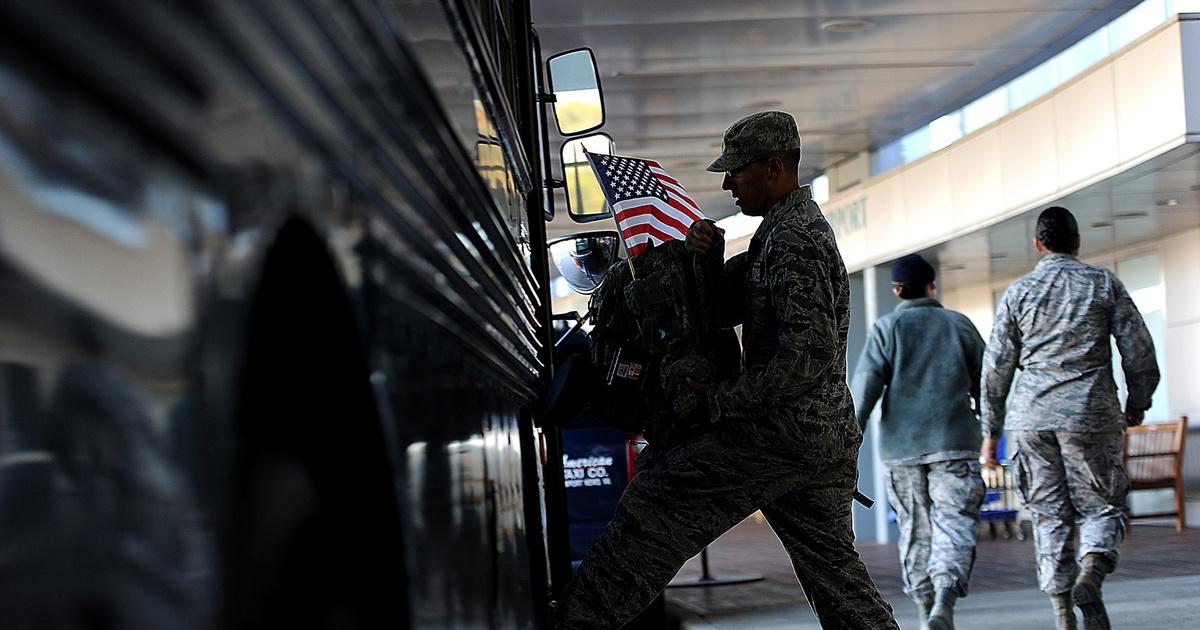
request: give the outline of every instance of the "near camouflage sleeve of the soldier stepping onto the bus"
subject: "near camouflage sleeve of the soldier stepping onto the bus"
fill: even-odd
[[[743,372],[713,388],[714,422],[757,419],[797,406],[841,359],[826,253],[792,232],[780,233],[767,247],[769,307],[779,323],[775,354],[764,370]]]

